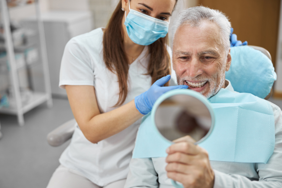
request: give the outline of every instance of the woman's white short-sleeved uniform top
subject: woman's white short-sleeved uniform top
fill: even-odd
[[[72,38],[66,45],[60,71],[61,88],[65,85],[90,85],[95,87],[101,113],[114,110],[118,102],[118,77],[109,71],[103,60],[103,31],[97,28]],[[171,54],[170,48],[168,48]],[[147,73],[150,55],[144,47],[141,55],[130,65],[129,92],[124,104],[151,86]],[[83,175],[98,186],[124,179],[141,119],[120,133],[94,144],[88,141],[76,125],[71,144],[63,152],[60,163]]]

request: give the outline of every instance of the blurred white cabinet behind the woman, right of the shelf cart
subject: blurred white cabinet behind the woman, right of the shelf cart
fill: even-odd
[[[42,21],[46,36],[52,95],[67,97],[66,90],[58,87],[64,48],[72,37],[93,29],[92,14],[90,11],[52,10],[42,14]],[[26,18],[21,24],[27,28],[34,28],[35,17]],[[34,85],[38,90],[43,89],[40,81],[34,80]]]

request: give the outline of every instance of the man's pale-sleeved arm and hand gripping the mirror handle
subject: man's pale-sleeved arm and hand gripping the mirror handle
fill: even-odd
[[[259,181],[251,181],[238,174],[226,174],[213,170],[213,188],[282,188],[282,111],[280,108],[277,108],[273,113],[275,119],[275,148],[266,164],[256,164]],[[189,147],[186,147],[185,150],[183,150],[184,147],[177,148],[177,145],[180,144]],[[171,150],[174,151],[171,152]],[[171,179],[183,183],[185,188],[195,188],[197,186],[199,187],[199,185],[201,188],[208,188],[209,186],[205,185],[206,181],[201,181],[207,179],[205,173],[189,173],[188,168],[191,168],[192,164],[189,166],[183,165],[188,164],[191,160],[195,162],[200,161],[200,163],[195,164],[204,164],[204,162],[207,161],[196,157],[196,155],[187,155],[192,152],[191,150],[198,151],[199,154],[202,152],[199,148],[197,149],[196,146],[192,145],[191,142],[176,143],[170,146],[170,152],[168,152],[169,155],[166,158],[166,161],[169,163],[166,167],[166,170],[170,173],[170,175],[167,173],[168,177],[171,176]],[[181,153],[179,153],[179,151]],[[186,153],[186,155],[184,153]],[[182,164],[177,164],[179,161]],[[205,169],[208,167],[209,165],[195,165],[194,169],[191,171],[196,172],[202,169],[202,171],[205,172],[207,171]]]

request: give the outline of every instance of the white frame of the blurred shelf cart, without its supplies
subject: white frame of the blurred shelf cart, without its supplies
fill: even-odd
[[[50,85],[49,68],[48,68],[48,62],[47,62],[44,27],[43,27],[41,15],[40,15],[39,1],[35,0],[34,6],[36,9],[37,29],[38,29],[39,43],[40,43],[39,48],[40,48],[40,57],[41,57],[41,63],[43,67],[43,74],[44,74],[45,92],[32,92],[29,100],[23,103],[23,100],[22,100],[23,98],[21,96],[21,91],[20,91],[20,86],[19,86],[19,75],[18,75],[19,67],[16,64],[15,51],[14,51],[13,40],[12,40],[12,33],[10,29],[9,10],[8,10],[6,0],[0,0],[0,1],[1,1],[0,2],[1,20],[2,20],[3,29],[4,29],[7,60],[8,60],[8,65],[10,69],[9,76],[10,76],[11,93],[13,96],[13,103],[14,103],[14,105],[10,105],[9,107],[0,108],[0,113],[16,115],[18,117],[19,125],[23,126],[24,125],[24,113],[30,111],[31,109],[45,102],[47,102],[48,107],[52,106],[51,85]],[[25,66],[25,69],[28,69],[29,65],[25,64],[24,66]]]

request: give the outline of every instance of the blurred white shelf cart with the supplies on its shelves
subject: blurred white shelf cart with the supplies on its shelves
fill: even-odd
[[[36,12],[34,29],[27,30],[20,25],[13,24],[10,19],[10,8],[30,5]],[[0,113],[16,115],[19,125],[24,125],[24,113],[45,102],[47,102],[48,107],[52,106],[46,41],[40,5],[37,0],[21,2],[0,0],[0,12],[0,72],[1,80],[4,80],[0,85]],[[30,36],[35,35],[38,37],[37,47],[35,47],[35,43],[28,40]],[[42,92],[34,90],[30,82],[32,79],[31,67],[39,64],[41,64],[41,71],[43,72]],[[5,77],[5,74],[7,77]]]

